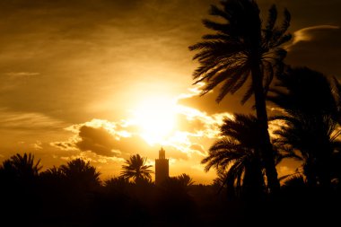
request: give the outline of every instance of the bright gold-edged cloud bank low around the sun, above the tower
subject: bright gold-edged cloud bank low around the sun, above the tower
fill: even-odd
[[[178,119],[177,126],[162,140],[152,144],[148,142],[148,135],[145,137],[145,132],[139,128],[138,122],[126,118],[117,122],[92,119],[66,127],[74,135],[64,142],[53,142],[51,145],[65,151],[90,151],[102,156],[124,158],[133,153],[144,153],[156,158],[158,149],[164,146],[170,151],[170,157],[188,160],[197,154],[205,156],[205,147],[219,135],[223,118],[232,118],[226,112],[208,115],[183,105],[177,105],[174,111]]]

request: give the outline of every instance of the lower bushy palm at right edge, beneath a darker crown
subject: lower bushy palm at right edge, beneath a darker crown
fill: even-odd
[[[302,173],[310,186],[330,185],[331,164],[338,154],[335,150],[340,148],[340,142],[334,136],[335,121],[328,116],[307,117],[299,113],[280,119],[285,124],[274,132],[279,135],[274,140],[275,145],[279,149],[285,146],[286,152],[290,151],[294,159],[302,162]]]

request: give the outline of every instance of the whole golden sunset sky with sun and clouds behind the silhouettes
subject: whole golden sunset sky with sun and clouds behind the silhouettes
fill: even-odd
[[[208,33],[208,0],[1,0],[0,162],[34,153],[44,168],[81,157],[102,178],[131,154],[210,183],[200,161],[224,117],[251,113],[240,92],[199,97],[188,46]],[[292,13],[286,63],[341,79],[341,1],[258,0]],[[269,110],[271,111],[271,106]],[[290,163],[279,174],[292,170]]]

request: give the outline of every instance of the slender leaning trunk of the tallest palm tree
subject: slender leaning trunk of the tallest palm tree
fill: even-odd
[[[259,68],[258,61],[251,67],[252,86],[255,94],[256,114],[259,121],[259,130],[262,135],[261,154],[264,160],[267,185],[272,195],[277,195],[280,189],[279,180],[277,177],[277,170],[275,169],[275,155],[270,143],[270,136],[267,131],[267,106],[266,97],[263,89],[262,73]]]

